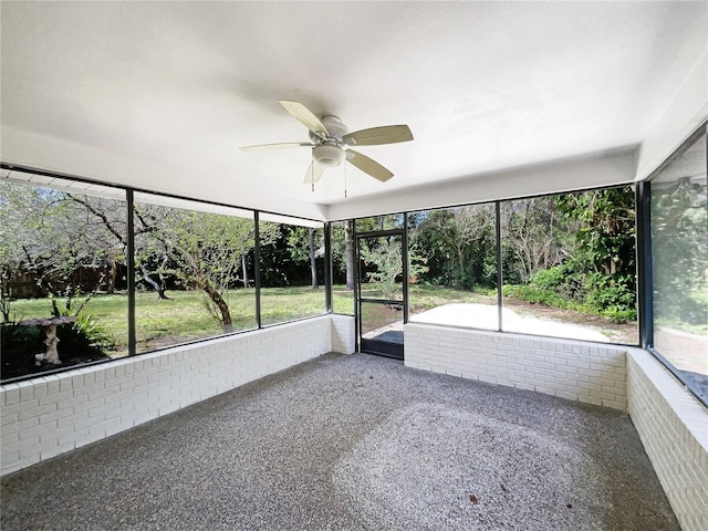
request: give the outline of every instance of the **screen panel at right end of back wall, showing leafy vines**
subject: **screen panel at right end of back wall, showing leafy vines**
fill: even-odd
[[[637,344],[632,187],[501,204],[502,330]]]

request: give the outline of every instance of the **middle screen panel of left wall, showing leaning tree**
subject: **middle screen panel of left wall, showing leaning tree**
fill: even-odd
[[[256,327],[253,215],[135,194],[138,353]]]

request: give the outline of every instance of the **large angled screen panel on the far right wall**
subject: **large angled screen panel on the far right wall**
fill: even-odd
[[[706,134],[650,181],[654,347],[708,396]]]

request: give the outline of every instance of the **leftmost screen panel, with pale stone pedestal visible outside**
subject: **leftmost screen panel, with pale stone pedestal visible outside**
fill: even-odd
[[[2,379],[128,353],[126,219],[117,188],[0,180]]]

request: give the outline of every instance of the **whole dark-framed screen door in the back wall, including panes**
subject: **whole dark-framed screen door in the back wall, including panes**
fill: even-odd
[[[404,231],[357,235],[356,257],[360,350],[403,360],[407,311]]]

